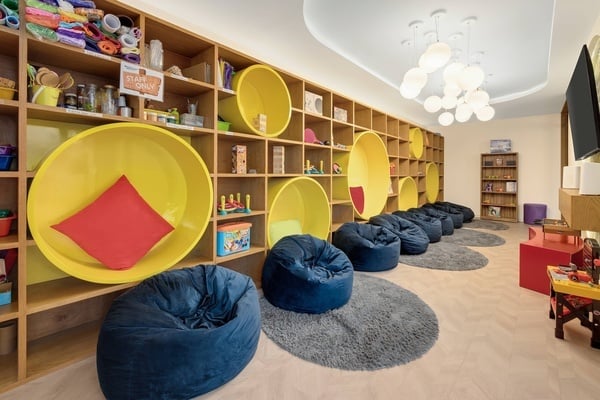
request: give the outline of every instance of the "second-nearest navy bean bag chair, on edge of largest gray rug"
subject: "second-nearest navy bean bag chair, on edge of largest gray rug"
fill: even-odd
[[[354,269],[348,256],[312,235],[281,238],[265,259],[262,289],[284,310],[320,314],[350,300]]]

